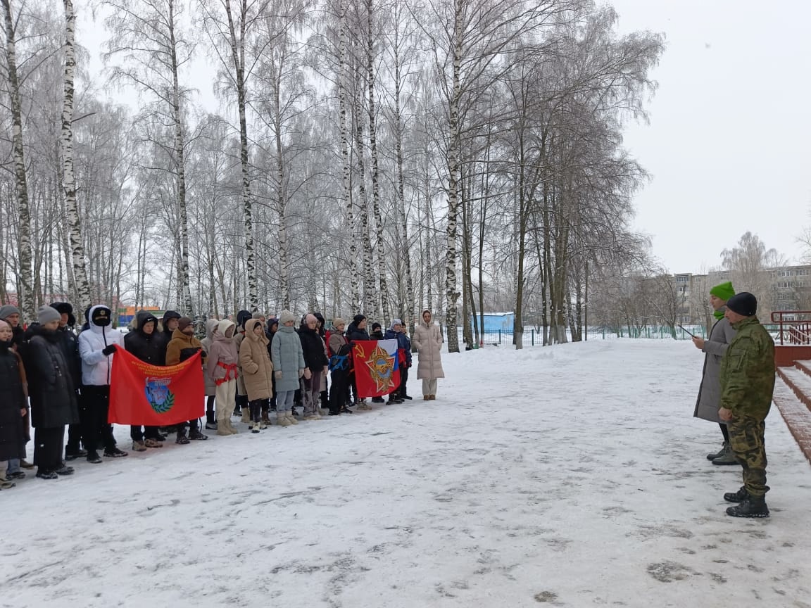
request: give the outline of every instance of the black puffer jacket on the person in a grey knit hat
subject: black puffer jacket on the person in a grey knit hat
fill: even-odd
[[[28,329],[31,336],[23,361],[31,397],[31,424],[35,428],[55,428],[79,422],[79,407],[65,361],[58,332],[40,326]]]

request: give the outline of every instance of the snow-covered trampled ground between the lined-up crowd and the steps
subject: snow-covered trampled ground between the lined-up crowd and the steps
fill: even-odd
[[[772,516],[724,514],[692,344],[444,367],[436,401],[414,373],[405,405],[2,491],[0,606],[811,606],[811,466],[773,408]]]

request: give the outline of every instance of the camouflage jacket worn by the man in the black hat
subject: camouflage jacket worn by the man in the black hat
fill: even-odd
[[[775,340],[757,317],[732,328],[736,336],[721,359],[721,407],[762,420],[775,390]]]

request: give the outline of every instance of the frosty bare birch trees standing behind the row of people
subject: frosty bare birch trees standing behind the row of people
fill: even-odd
[[[485,310],[581,336],[590,274],[645,258],[653,32],[581,0],[0,0],[0,301]],[[200,82],[195,62],[216,66]],[[207,111],[200,89],[214,87]],[[115,101],[126,95],[131,103]]]

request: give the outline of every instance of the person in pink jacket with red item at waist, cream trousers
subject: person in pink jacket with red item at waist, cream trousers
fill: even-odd
[[[229,319],[222,319],[213,334],[208,347],[206,376],[217,387],[217,435],[237,435],[239,432],[231,424],[237,395],[239,353],[234,343],[236,325]]]

